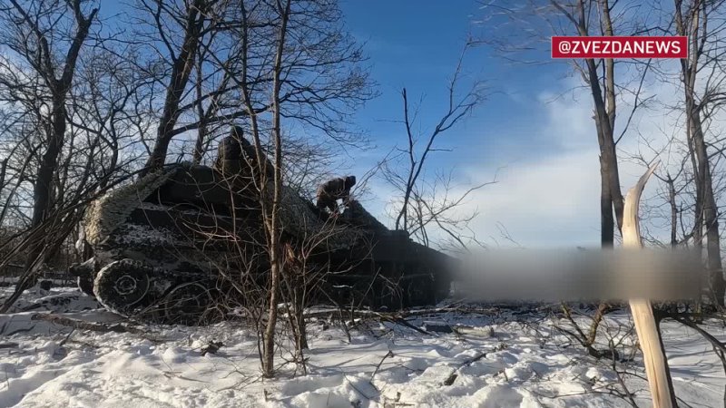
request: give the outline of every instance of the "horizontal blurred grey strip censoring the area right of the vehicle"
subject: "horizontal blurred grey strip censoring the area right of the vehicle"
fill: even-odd
[[[705,277],[693,251],[513,249],[466,257],[455,279],[473,301],[681,301],[699,299]]]

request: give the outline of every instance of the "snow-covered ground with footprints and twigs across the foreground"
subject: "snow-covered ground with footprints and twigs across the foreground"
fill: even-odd
[[[31,320],[50,310],[113,322],[93,299],[72,289],[34,289],[0,315],[0,406],[26,407],[407,407],[650,406],[640,356],[596,361],[544,312],[489,309],[416,317],[455,333],[423,335],[405,325],[371,322],[351,328],[309,325],[308,374],[280,352],[280,375],[260,378],[254,332],[240,323],[152,326],[145,335],[94,333]],[[486,313],[485,313],[486,312]],[[627,359],[629,317],[607,318],[603,348]],[[726,339],[713,323],[711,334]],[[682,325],[664,323],[673,383],[682,406],[723,406],[721,362],[711,345]],[[145,337],[145,338],[144,338]],[[216,354],[202,355],[209,342]],[[285,348],[285,347],[283,347]],[[390,353],[389,353],[390,352]]]

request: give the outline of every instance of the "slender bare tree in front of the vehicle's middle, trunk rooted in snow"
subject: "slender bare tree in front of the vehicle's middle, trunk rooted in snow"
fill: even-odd
[[[294,155],[294,149],[289,149],[294,146],[286,147],[294,138],[286,138],[283,127],[298,125],[319,131],[322,138],[332,138],[339,144],[353,142],[355,139],[348,137],[345,129],[348,121],[342,118],[373,93],[368,90],[368,73],[358,67],[363,61],[362,54],[342,31],[335,2],[242,2],[237,13],[240,24],[235,28],[231,48],[237,58],[226,64],[215,61],[224,66],[239,92],[241,113],[231,115],[246,118],[254,147],[257,169],[251,169],[255,175],[252,182],[259,191],[270,262],[268,316],[260,332],[261,363],[263,373],[270,376],[274,373],[277,303],[284,274],[279,213],[285,184],[283,170],[290,168],[284,160]],[[213,59],[214,55],[209,57]],[[314,138],[309,139],[305,144],[315,146]],[[267,146],[272,157],[271,174],[267,170]],[[305,169],[303,172],[309,172]]]

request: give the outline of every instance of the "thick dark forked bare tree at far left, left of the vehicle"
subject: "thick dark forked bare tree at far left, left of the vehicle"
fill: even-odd
[[[30,226],[39,228],[54,212],[54,183],[67,136],[68,96],[74,85],[76,65],[88,39],[98,8],[88,2],[10,0],[0,6],[4,34],[0,43],[11,51],[3,61],[0,86],[6,100],[25,104],[34,115],[33,131],[43,135],[37,149],[33,180]],[[53,243],[37,239],[30,243],[26,269]],[[55,244],[57,245],[57,244]],[[40,261],[41,263],[43,260]],[[30,277],[30,276],[28,276]],[[24,285],[19,285],[22,291]]]

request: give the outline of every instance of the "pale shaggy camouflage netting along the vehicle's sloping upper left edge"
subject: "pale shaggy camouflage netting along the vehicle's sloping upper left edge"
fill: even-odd
[[[152,192],[160,188],[180,168],[171,167],[153,171],[137,182],[113,189],[100,199],[94,200],[86,210],[83,232],[89,244],[102,244],[114,229],[129,217],[133,209]]]

